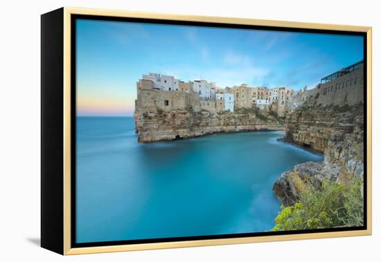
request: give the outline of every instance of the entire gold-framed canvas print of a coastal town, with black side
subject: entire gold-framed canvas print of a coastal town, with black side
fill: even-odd
[[[42,15],[41,245],[371,234],[371,28]]]

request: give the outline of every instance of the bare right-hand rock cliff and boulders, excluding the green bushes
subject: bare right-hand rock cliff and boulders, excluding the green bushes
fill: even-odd
[[[285,125],[286,141],[324,152],[324,161],[296,165],[278,177],[273,190],[285,206],[298,201],[301,181],[319,189],[324,180],[364,176],[363,105],[303,107],[287,116]]]

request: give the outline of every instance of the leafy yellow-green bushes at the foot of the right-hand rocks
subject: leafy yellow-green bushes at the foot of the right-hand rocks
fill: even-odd
[[[362,177],[343,183],[325,180],[319,188],[294,176],[299,201],[281,206],[272,231],[357,227],[364,225]]]

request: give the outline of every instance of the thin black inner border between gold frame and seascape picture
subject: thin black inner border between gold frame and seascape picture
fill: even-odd
[[[182,236],[171,238],[145,238],[136,240],[125,241],[101,241],[89,243],[76,243],[76,20],[89,19],[98,21],[125,21],[145,24],[167,24],[177,26],[203,26],[203,27],[216,27],[216,28],[236,28],[236,29],[251,29],[251,30],[271,30],[271,31],[286,31],[294,33],[324,33],[330,35],[355,35],[362,36],[364,40],[364,225],[362,227],[337,227],[331,229],[308,229],[308,230],[294,230],[283,232],[256,232],[256,233],[240,233],[240,234],[220,234],[211,236]],[[166,20],[166,19],[146,19],[135,17],[110,17],[102,15],[71,15],[71,248],[76,247],[99,247],[110,245],[134,245],[144,243],[168,243],[178,241],[199,241],[199,240],[212,240],[212,239],[227,239],[227,238],[244,238],[254,236],[282,236],[294,234],[310,234],[310,233],[324,233],[324,232],[348,232],[355,230],[366,230],[367,225],[367,33],[357,31],[345,30],[326,30],[326,29],[310,29],[310,28],[290,28],[281,26],[255,26],[243,24],[224,24],[213,22],[200,22],[200,21],[179,21],[179,20]]]

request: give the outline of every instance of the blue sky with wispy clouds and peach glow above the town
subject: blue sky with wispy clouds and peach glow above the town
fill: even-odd
[[[131,116],[143,73],[218,87],[314,87],[363,59],[359,36],[77,20],[78,115]]]

